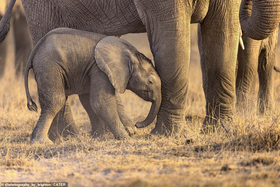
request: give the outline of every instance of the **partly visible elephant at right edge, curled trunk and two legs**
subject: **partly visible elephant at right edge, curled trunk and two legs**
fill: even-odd
[[[274,102],[273,69],[277,70],[274,65],[280,21],[279,4],[279,0],[266,3],[247,0],[240,5],[239,18],[245,48],[238,49],[237,101],[241,106],[247,103],[258,75],[259,114],[271,112]]]

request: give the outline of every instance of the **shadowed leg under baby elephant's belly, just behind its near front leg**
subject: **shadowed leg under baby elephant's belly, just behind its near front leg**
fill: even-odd
[[[79,99],[91,120],[91,134],[93,137],[102,137],[104,135],[104,122],[92,110],[89,93],[79,94]]]

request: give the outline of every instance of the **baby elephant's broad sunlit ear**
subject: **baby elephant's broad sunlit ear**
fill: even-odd
[[[94,52],[98,67],[108,75],[114,88],[125,92],[130,78],[130,67],[136,61],[137,49],[127,41],[115,36],[100,40]]]

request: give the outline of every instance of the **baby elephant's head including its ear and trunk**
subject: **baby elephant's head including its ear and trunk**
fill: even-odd
[[[161,81],[150,59],[127,41],[107,36],[95,47],[95,61],[108,75],[116,91],[130,89],[146,101],[152,102],[147,118],[137,122],[137,128],[150,125],[161,103]]]

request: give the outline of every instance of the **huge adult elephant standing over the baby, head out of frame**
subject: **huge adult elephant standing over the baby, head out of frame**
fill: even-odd
[[[11,0],[1,20],[0,39],[8,30]],[[238,0],[22,0],[36,44],[48,31],[69,27],[106,35],[147,32],[155,68],[162,81],[162,103],[151,133],[184,130],[190,60],[190,24],[201,23],[208,76],[208,116],[231,119],[235,112],[235,64],[238,50]],[[4,18],[4,17],[3,17]],[[1,41],[1,40],[0,40]],[[64,124],[74,124],[69,103]],[[206,118],[208,124],[212,118]],[[217,121],[215,121],[216,123]]]

